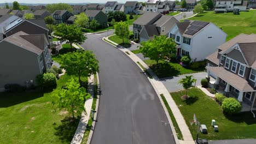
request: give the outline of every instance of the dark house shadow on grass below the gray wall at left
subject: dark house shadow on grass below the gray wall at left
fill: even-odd
[[[43,96],[44,93],[40,91],[2,92],[0,93],[0,107],[17,105]]]

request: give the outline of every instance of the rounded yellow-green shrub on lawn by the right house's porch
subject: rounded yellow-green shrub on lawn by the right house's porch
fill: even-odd
[[[222,102],[222,109],[226,113],[233,114],[240,112],[242,106],[238,100],[234,98],[226,98]]]

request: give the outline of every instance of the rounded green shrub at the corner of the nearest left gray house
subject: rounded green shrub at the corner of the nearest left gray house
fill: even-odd
[[[36,82],[39,87],[56,87],[56,76],[53,73],[37,75]]]

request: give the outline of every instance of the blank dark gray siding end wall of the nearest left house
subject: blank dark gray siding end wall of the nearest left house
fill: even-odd
[[[38,55],[19,46],[0,43],[0,88],[7,83],[26,86],[26,81],[35,81],[40,74]]]

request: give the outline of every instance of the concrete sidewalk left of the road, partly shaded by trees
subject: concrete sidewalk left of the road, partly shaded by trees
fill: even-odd
[[[71,144],[80,144],[83,140],[85,129],[88,124],[90,113],[91,113],[91,106],[92,106],[92,101],[94,97],[94,85],[95,85],[94,75],[91,75],[88,79],[88,93],[90,93],[91,98],[87,99],[84,103],[84,107],[87,115],[85,114],[85,112],[82,113],[80,122],[77,127],[77,131],[75,131]]]

